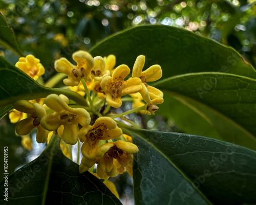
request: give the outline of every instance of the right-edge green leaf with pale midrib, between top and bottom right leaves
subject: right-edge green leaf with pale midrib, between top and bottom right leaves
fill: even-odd
[[[175,104],[170,104],[174,98],[194,112],[185,119],[187,123],[190,120],[189,133],[201,134],[198,117],[194,118],[197,115],[219,133],[220,139],[256,150],[256,80],[233,74],[197,73],[175,76],[155,86],[165,94],[159,114],[172,117],[172,110],[164,110],[175,109]],[[187,117],[187,113],[180,115],[184,115],[182,119]],[[178,123],[182,125],[181,118]]]

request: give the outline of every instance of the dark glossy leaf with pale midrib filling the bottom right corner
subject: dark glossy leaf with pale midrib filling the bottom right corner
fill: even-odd
[[[134,194],[139,204],[255,203],[256,152],[182,133],[133,128]]]

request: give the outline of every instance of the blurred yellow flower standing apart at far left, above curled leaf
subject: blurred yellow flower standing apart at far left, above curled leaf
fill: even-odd
[[[27,55],[26,57],[20,57],[15,64],[20,70],[28,74],[34,80],[37,80],[39,76],[45,73],[45,68],[40,63],[38,58],[33,55]]]

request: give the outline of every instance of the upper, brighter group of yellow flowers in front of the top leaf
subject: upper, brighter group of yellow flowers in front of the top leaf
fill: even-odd
[[[147,82],[153,82],[162,77],[162,69],[159,65],[152,65],[142,72],[145,63],[143,55],[137,57],[132,77],[127,80],[124,79],[130,74],[130,68],[122,64],[114,69],[116,64],[114,55],[93,58],[85,51],[77,51],[73,54],[73,59],[77,62],[77,66],[71,64],[66,58],[60,58],[55,62],[55,69],[68,76],[63,82],[68,86],[76,86],[71,89],[80,95],[84,96],[80,82],[84,79],[87,85],[90,85],[89,90],[93,90],[99,99],[106,99],[106,102],[115,108],[122,105],[121,97],[127,94],[136,99],[134,107],[146,104],[144,113],[147,115],[154,115],[158,109],[156,104],[163,103],[163,93],[147,85]],[[145,103],[141,102],[142,99]]]

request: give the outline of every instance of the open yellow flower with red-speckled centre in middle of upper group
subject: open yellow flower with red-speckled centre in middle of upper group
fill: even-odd
[[[100,83],[101,88],[106,94],[106,102],[112,107],[122,105],[121,97],[127,94],[140,92],[141,80],[137,77],[124,81],[129,75],[130,69],[127,65],[119,65],[113,72],[112,77],[104,77]]]

